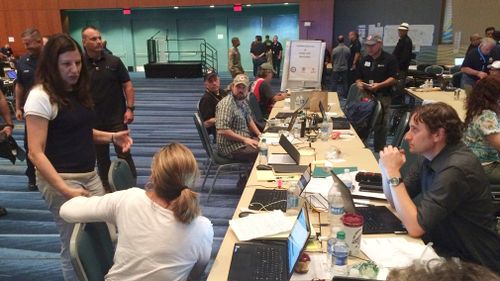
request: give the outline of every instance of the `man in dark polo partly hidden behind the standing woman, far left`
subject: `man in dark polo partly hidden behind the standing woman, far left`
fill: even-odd
[[[16,119],[23,120],[24,103],[28,98],[28,93],[33,87],[35,82],[35,69],[38,58],[42,53],[42,35],[36,28],[28,28],[21,33],[21,40],[23,41],[24,48],[28,51],[17,61],[17,80],[16,80]],[[26,134],[26,127],[24,130],[24,149],[28,154],[28,136]],[[31,163],[29,158],[26,158],[26,176],[28,177],[28,190],[38,190],[36,186],[35,166]]]

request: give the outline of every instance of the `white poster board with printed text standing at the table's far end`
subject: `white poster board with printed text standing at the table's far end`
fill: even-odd
[[[281,90],[321,89],[326,43],[319,40],[292,40],[285,46]]]

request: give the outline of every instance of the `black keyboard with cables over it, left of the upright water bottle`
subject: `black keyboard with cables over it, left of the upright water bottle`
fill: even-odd
[[[248,208],[257,211],[281,210],[286,212],[286,199],[286,190],[256,189]]]

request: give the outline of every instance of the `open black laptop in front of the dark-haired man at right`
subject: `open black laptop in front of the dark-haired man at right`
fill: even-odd
[[[352,194],[342,180],[332,173],[333,180],[337,183],[344,199],[346,213],[356,213],[364,218],[363,234],[407,233],[403,223],[385,206],[358,207],[354,205]]]

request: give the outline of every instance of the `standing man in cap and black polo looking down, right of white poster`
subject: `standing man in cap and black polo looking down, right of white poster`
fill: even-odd
[[[382,104],[382,118],[375,124],[374,149],[384,148],[387,139],[387,124],[389,123],[389,107],[392,100],[392,86],[396,84],[398,63],[396,58],[382,50],[382,37],[370,35],[366,38],[364,56],[358,66],[356,86],[361,91],[368,92]],[[369,85],[366,85],[366,84]]]

